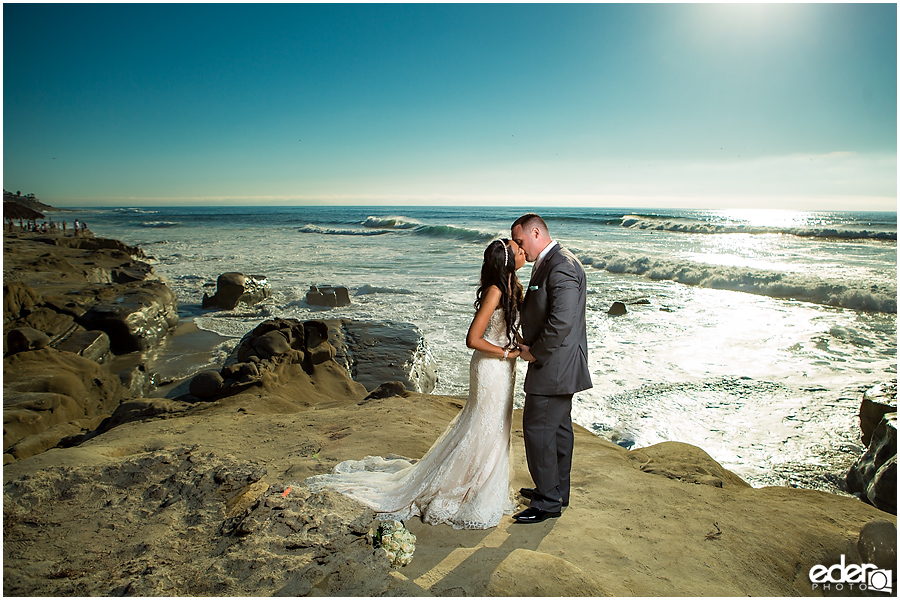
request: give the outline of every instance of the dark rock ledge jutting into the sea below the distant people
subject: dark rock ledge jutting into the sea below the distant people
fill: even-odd
[[[97,353],[88,331],[106,334],[114,354],[158,345],[178,324],[178,306],[140,258],[140,248],[117,240],[5,233],[4,353],[17,328],[42,331],[50,346],[68,343],[76,353]]]

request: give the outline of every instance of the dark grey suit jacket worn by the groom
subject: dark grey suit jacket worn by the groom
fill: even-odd
[[[592,387],[587,364],[587,277],[575,255],[556,245],[531,274],[522,305],[528,364],[525,392],[555,396]]]

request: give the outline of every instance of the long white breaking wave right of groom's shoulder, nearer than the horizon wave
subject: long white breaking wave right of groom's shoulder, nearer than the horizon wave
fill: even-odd
[[[867,312],[896,313],[897,288],[869,282],[822,281],[797,273],[708,265],[648,256],[586,256],[581,262],[609,273],[639,275],[717,290],[746,292]]]

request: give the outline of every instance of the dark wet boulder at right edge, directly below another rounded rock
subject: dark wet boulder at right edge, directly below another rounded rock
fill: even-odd
[[[897,413],[888,413],[872,434],[869,449],[850,467],[847,489],[862,500],[897,514]]]

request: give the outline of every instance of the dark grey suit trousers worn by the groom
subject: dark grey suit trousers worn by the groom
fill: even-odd
[[[531,506],[558,511],[569,500],[569,476],[575,434],[572,431],[572,396],[525,394],[522,429],[525,458],[536,493]]]

